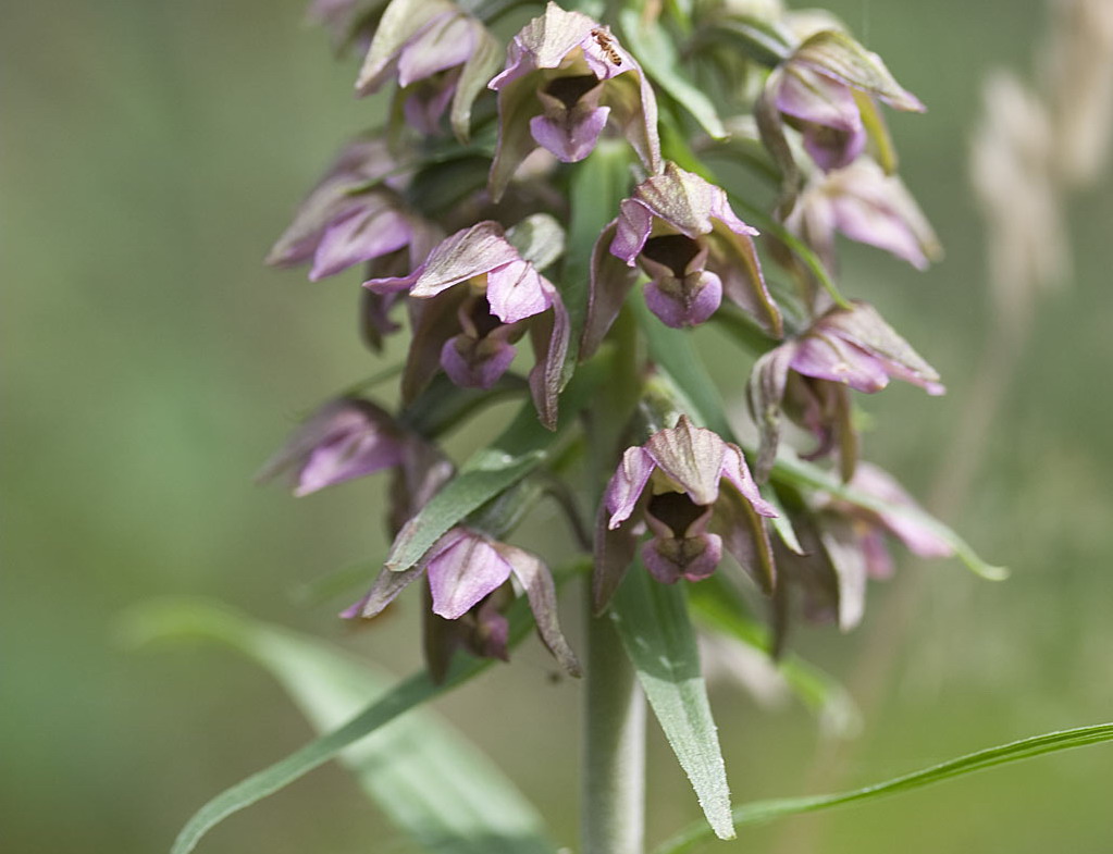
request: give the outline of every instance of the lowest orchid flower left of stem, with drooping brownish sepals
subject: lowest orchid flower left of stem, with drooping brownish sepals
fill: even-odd
[[[506,657],[505,626],[490,609],[484,611],[484,600],[513,577],[530,602],[541,640],[569,674],[580,675],[556,617],[556,588],[549,568],[535,554],[472,528],[451,529],[410,569],[384,567],[367,595],[342,616],[370,619],[381,613],[422,573],[429,579],[433,613],[477,622],[485,637],[482,654],[496,658]]]

